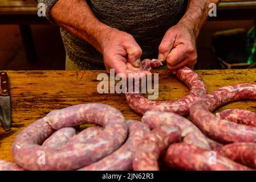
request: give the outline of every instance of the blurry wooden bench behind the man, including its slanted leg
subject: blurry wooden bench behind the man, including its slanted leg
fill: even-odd
[[[36,51],[32,37],[31,24],[50,24],[45,17],[39,17],[38,3],[34,0],[0,0],[0,24],[18,24],[29,63],[36,62]],[[214,25],[219,20],[256,20],[256,0],[222,0],[217,17],[210,18]],[[224,23],[224,22],[222,22]],[[202,51],[204,52],[204,51]]]

